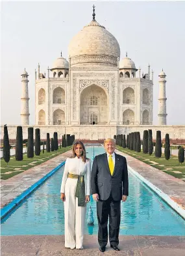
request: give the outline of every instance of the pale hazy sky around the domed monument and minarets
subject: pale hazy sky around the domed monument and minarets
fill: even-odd
[[[95,20],[119,42],[142,72],[154,70],[153,124],[158,124],[158,74],[166,72],[167,124],[185,124],[185,1],[1,2],[1,124],[21,123],[21,73],[29,73],[30,124],[34,124],[34,70],[47,73],[68,59],[68,44]],[[141,74],[142,74],[141,72]],[[138,72],[137,72],[138,73]],[[138,76],[136,73],[136,76]]]

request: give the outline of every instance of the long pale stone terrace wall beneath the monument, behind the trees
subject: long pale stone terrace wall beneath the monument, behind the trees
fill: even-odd
[[[141,139],[143,137],[143,131],[152,129],[153,139],[156,138],[156,131],[160,130],[162,133],[162,139],[166,134],[169,134],[170,139],[182,140],[185,139],[185,125],[166,125],[166,126],[101,126],[101,125],[66,125],[66,126],[22,126],[23,127],[23,139],[27,139],[27,131],[29,127],[40,128],[40,138],[46,139],[46,134],[49,132],[50,137],[53,137],[54,132],[58,132],[58,139],[62,138],[63,134],[73,134],[78,139],[90,139],[98,140],[105,139],[107,137],[114,137],[116,134],[129,134],[130,132],[140,132]],[[8,126],[9,139],[16,139],[17,126]],[[1,126],[1,139],[3,139],[3,126]]]

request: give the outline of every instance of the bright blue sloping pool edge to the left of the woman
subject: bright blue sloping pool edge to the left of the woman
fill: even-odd
[[[17,205],[19,205],[19,203],[21,203],[21,201],[23,201],[23,199],[25,199],[25,197],[30,195],[34,190],[36,190],[36,188],[38,188],[43,182],[45,182],[45,180],[47,180],[47,178],[51,177],[51,175],[56,173],[56,171],[58,171],[58,169],[60,169],[60,167],[62,167],[65,163],[66,163],[66,161],[64,161],[61,164],[59,164],[58,166],[56,166],[49,173],[47,173],[47,175],[42,177],[36,183],[32,184],[31,187],[27,188],[27,190],[25,190],[23,193],[18,195],[18,197],[16,197],[10,203],[8,203],[8,205],[6,205],[5,207],[1,208],[1,220],[3,220],[3,218],[5,218],[5,216],[9,212],[11,212]]]

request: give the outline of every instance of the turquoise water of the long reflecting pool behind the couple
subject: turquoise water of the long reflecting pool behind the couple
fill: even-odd
[[[95,155],[104,151],[94,147]],[[93,148],[87,147],[92,158]],[[60,184],[64,166],[1,222],[1,235],[64,235],[64,206]],[[92,206],[94,226],[88,226]],[[96,203],[86,211],[86,234],[97,234]],[[129,173],[129,197],[121,202],[120,235],[185,235],[185,221],[138,178]]]

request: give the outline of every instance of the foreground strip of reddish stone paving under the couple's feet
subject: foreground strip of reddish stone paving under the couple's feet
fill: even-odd
[[[62,236],[2,236],[1,256],[184,256],[185,236],[119,236],[119,248],[99,251],[97,236],[85,235],[84,249],[66,249]]]

